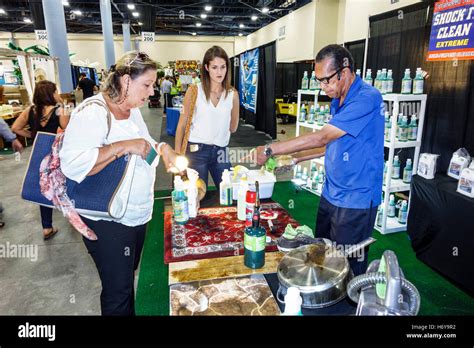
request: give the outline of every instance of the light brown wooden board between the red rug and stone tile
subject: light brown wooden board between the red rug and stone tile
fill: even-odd
[[[168,284],[238,277],[249,274],[276,273],[278,264],[284,255],[284,253],[278,251],[266,253],[265,265],[259,269],[246,267],[243,255],[174,262],[169,264]]]

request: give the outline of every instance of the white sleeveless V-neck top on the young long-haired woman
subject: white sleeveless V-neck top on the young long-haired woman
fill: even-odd
[[[194,109],[189,141],[208,145],[227,146],[230,138],[230,119],[232,113],[234,90],[222,93],[217,106],[214,106],[206,94],[202,85],[198,83],[198,96],[196,108]]]

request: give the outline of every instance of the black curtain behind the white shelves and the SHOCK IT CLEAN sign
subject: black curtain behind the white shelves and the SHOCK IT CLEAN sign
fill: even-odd
[[[393,70],[399,93],[405,68],[429,73],[421,152],[440,154],[438,171],[446,171],[460,147],[474,155],[473,61],[427,62],[434,1],[370,17],[367,68]]]

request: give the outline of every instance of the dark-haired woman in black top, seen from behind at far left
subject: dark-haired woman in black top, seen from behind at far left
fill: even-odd
[[[69,114],[62,107],[56,84],[43,80],[36,84],[33,105],[25,109],[13,123],[12,130],[18,135],[35,139],[38,132],[56,134],[65,129]],[[53,227],[53,208],[40,206],[44,240],[51,239],[58,229]]]

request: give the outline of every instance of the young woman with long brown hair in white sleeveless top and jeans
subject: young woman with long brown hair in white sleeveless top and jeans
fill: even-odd
[[[189,137],[186,149],[189,166],[198,171],[206,185],[209,172],[218,186],[224,170],[231,167],[227,146],[230,133],[234,133],[239,124],[239,95],[230,85],[229,67],[224,49],[213,46],[206,51],[201,68],[202,81],[197,84],[195,110],[190,110],[191,92],[188,89],[176,129],[175,151],[179,152],[184,137]],[[188,135],[185,134],[186,123],[193,111]]]

